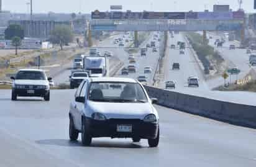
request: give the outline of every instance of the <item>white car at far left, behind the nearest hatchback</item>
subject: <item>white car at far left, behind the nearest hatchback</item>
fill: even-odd
[[[12,101],[17,96],[43,97],[50,101],[50,83],[52,78],[47,78],[43,70],[23,69],[19,70],[15,77],[11,77]]]

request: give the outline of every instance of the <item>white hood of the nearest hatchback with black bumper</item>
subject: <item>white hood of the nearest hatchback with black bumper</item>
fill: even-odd
[[[94,112],[104,114],[107,119],[141,119],[153,114],[154,109],[149,102],[123,103],[123,102],[92,102],[88,101],[89,117]],[[157,114],[156,114],[157,115]]]

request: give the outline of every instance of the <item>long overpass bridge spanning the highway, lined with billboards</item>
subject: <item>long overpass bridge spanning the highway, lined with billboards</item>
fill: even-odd
[[[242,29],[244,12],[99,12],[91,14],[91,30],[198,31]]]

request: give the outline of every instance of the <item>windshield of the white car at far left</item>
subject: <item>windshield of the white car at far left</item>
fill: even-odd
[[[46,80],[45,74],[41,71],[19,71],[16,79],[26,80]]]

